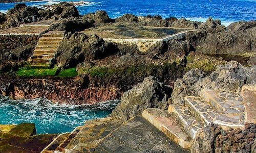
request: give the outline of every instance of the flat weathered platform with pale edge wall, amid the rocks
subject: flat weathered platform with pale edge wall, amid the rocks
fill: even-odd
[[[148,48],[159,41],[184,36],[193,29],[181,28],[159,28],[148,26],[134,26],[131,23],[113,23],[104,27],[90,28],[82,31],[87,35],[96,34],[105,41],[134,45],[136,44],[141,52],[146,52]]]

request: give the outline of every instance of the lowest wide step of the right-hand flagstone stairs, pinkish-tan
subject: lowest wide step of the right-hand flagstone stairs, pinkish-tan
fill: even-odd
[[[150,108],[144,110],[142,116],[182,148],[189,149],[191,147],[190,136],[167,110]]]

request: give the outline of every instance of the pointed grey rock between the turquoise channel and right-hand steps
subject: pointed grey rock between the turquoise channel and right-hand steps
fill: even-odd
[[[142,114],[147,108],[167,108],[171,89],[158,82],[154,77],[145,78],[141,84],[123,93],[121,103],[113,110],[111,116],[126,121]]]

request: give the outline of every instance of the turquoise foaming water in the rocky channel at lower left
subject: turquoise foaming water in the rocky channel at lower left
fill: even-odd
[[[11,100],[0,97],[0,124],[35,123],[37,134],[71,132],[88,119],[106,117],[118,100],[87,107],[53,105],[45,98]]]

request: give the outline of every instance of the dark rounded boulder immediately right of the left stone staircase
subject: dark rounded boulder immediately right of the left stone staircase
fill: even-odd
[[[102,59],[117,52],[111,43],[105,43],[96,35],[88,37],[83,33],[74,33],[62,40],[57,48],[56,61],[63,68],[76,67],[78,63]]]

